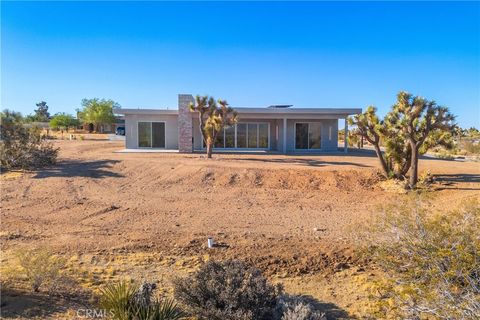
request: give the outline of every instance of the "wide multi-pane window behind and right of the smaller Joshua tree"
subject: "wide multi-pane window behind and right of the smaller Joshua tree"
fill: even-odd
[[[215,148],[268,149],[270,144],[268,123],[237,123],[217,134]]]

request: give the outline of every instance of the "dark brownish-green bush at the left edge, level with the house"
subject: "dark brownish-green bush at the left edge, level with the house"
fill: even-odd
[[[35,169],[54,164],[58,149],[8,110],[0,114],[0,163],[3,169]]]

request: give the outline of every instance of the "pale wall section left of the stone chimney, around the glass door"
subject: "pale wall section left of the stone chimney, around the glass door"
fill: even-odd
[[[165,149],[178,149],[177,115],[125,115],[125,144],[138,148],[138,122],[165,122]]]

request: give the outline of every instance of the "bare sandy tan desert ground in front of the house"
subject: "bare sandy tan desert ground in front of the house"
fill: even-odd
[[[2,267],[17,250],[48,247],[68,257],[92,290],[132,278],[157,281],[168,295],[173,277],[207,259],[235,258],[288,292],[312,296],[329,319],[361,317],[376,271],[355,260],[355,232],[409,196],[381,187],[367,151],[205,159],[118,153],[121,141],[55,144],[55,166],[0,176]],[[422,159],[420,171],[435,177],[433,209],[480,196],[478,162]],[[20,292],[3,298],[4,317],[64,317],[84,303]]]

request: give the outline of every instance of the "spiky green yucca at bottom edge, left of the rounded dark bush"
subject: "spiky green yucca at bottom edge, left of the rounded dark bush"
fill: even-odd
[[[137,286],[127,281],[100,290],[100,306],[117,320],[177,320],[183,312],[173,300],[154,299],[155,285]]]

